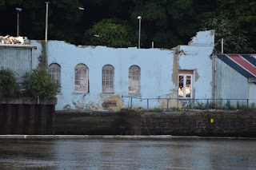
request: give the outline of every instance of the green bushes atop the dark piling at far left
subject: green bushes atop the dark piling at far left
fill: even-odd
[[[26,73],[23,79],[21,89],[13,71],[0,69],[0,99],[3,97],[32,97],[34,99],[40,97],[47,101],[55,98],[60,92],[61,86],[45,69],[34,69],[32,73]]]

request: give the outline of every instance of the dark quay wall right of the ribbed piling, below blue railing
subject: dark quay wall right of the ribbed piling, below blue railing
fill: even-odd
[[[56,113],[55,134],[256,137],[256,113]]]

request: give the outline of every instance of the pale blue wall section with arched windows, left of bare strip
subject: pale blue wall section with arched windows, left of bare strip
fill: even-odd
[[[61,65],[62,92],[58,94],[56,109],[90,109],[118,111],[128,107],[128,74],[131,65],[141,68],[141,93],[138,97],[158,97],[175,86],[170,73],[172,50],[114,49],[104,46],[78,47],[65,42],[48,42],[48,63]],[[74,93],[74,68],[79,63],[89,68],[90,93]],[[114,66],[114,93],[102,93],[102,67]],[[143,105],[144,102],[139,102]],[[150,103],[152,107],[158,101]],[[135,103],[134,103],[134,106]]]

